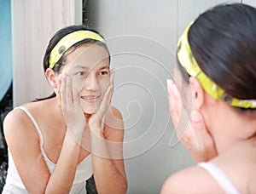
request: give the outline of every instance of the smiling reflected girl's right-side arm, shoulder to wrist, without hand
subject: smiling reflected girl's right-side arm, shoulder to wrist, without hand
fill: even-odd
[[[99,193],[125,193],[127,180],[123,159],[124,128],[122,116],[109,108],[104,132],[95,128],[91,137],[92,163],[96,188]]]

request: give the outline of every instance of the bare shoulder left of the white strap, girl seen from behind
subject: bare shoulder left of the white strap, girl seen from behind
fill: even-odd
[[[160,193],[222,193],[222,190],[206,170],[193,166],[168,177]]]

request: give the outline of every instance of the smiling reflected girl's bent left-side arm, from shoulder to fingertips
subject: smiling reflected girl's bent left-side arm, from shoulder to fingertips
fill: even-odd
[[[69,81],[66,83],[66,78],[63,78],[60,91],[67,133],[52,174],[49,173],[41,154],[38,133],[26,114],[14,110],[4,121],[4,134],[9,150],[20,178],[30,193],[68,193],[73,185],[80,151],[80,145],[76,140],[79,140],[84,130],[84,113],[81,109],[80,112],[77,109],[80,107],[77,94],[73,93],[71,102],[71,83]],[[70,131],[75,132],[72,133],[73,135],[77,135],[75,140]]]

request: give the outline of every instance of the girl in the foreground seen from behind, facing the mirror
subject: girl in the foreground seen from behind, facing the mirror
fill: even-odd
[[[177,134],[198,164],[170,176],[161,193],[255,193],[256,9],[216,6],[177,46],[177,83],[167,86],[172,121],[177,127],[181,111],[190,113]]]

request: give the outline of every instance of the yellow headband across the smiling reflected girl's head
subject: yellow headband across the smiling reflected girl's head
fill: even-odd
[[[87,38],[106,44],[105,40],[94,31],[74,31],[66,37],[62,37],[59,43],[55,45],[55,48],[52,49],[49,55],[49,68],[53,68],[55,66],[68,48],[71,48],[75,43],[79,43]]]

